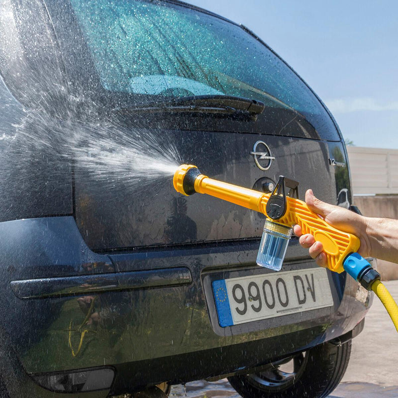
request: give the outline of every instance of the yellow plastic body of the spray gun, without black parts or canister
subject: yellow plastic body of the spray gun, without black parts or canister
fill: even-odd
[[[174,175],[174,188],[183,195],[186,195],[183,188],[185,174],[193,167],[196,166],[181,165]],[[213,180],[202,174],[196,178],[194,188],[199,194],[207,194],[215,198],[227,200],[267,215],[266,206],[271,194],[264,194],[248,188]],[[348,254],[357,252],[359,249],[360,242],[358,237],[333,228],[319,217],[319,215],[311,211],[302,200],[290,197],[286,199],[287,209],[285,215],[278,220],[271,221],[289,227],[298,224],[303,234],[310,233],[314,235],[315,240],[323,244],[323,250],[327,258],[327,267],[334,272],[343,272],[344,259]]]

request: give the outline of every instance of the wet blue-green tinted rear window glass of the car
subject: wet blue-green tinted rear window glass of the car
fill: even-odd
[[[103,88],[151,98],[228,95],[295,110],[339,140],[297,75],[238,25],[165,1],[71,0]],[[298,134],[299,135],[299,134]]]

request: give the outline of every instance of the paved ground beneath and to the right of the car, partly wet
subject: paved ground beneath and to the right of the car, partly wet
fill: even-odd
[[[385,283],[398,301],[398,281]],[[351,360],[329,398],[398,398],[398,334],[383,304],[375,297],[365,328],[353,340]],[[170,398],[239,398],[226,379],[173,387]]]

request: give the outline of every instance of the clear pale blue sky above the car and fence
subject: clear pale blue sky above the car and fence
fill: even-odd
[[[188,0],[253,30],[356,146],[398,148],[398,1]]]

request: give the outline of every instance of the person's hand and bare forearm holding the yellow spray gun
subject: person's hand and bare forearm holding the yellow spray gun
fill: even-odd
[[[305,202],[330,225],[356,235],[361,242],[358,253],[362,257],[376,257],[398,263],[398,220],[364,217],[315,198],[311,190],[305,193]],[[294,232],[299,236],[300,245],[308,249],[316,264],[326,267],[326,255],[322,243],[315,241],[310,234],[302,235],[298,225],[295,225]]]

